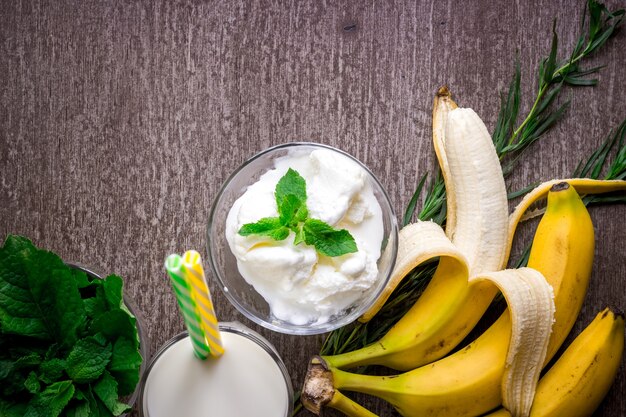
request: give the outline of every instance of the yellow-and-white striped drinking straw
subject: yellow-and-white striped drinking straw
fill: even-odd
[[[206,284],[202,258],[195,250],[189,250],[183,255],[185,278],[191,284],[191,295],[198,307],[204,337],[209,344],[211,356],[220,357],[224,353],[222,337],[218,327],[217,317],[211,301],[211,294]]]

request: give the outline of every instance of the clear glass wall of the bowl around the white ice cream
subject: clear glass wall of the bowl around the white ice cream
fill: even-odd
[[[327,321],[293,324],[278,319],[270,310],[267,301],[241,275],[237,259],[231,252],[225,230],[226,219],[234,202],[248,186],[259,180],[261,175],[274,168],[277,159],[288,155],[306,154],[317,149],[337,152],[354,161],[365,171],[365,179],[380,205],[383,222],[383,239],[377,261],[378,274],[369,290],[361,298]],[[394,267],[398,250],[398,226],[387,193],[378,179],[360,161],[351,155],[330,146],[316,143],[288,143],[278,145],[253,156],[241,165],[224,183],[213,204],[208,222],[208,251],[211,269],[226,298],[244,316],[270,330],[286,334],[313,335],[329,332],[345,326],[360,317],[377,299],[387,284]]]

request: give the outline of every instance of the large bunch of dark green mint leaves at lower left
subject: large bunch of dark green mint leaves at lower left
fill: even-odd
[[[122,278],[88,276],[28,239],[0,247],[0,416],[119,416],[142,357]]]

